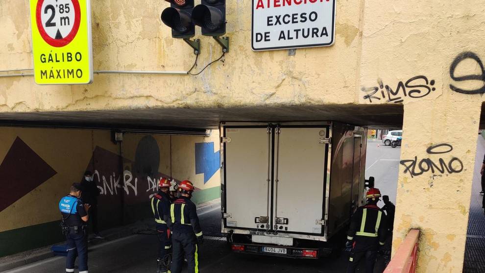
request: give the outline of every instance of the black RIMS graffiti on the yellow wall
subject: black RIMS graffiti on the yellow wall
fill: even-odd
[[[414,76],[406,81],[400,81],[394,88],[384,84],[382,79],[378,79],[377,83],[378,86],[361,88],[366,93],[364,99],[368,99],[370,103],[381,99],[386,99],[386,102],[400,103],[407,97],[423,98],[436,90],[435,80],[429,80],[423,75]]]

